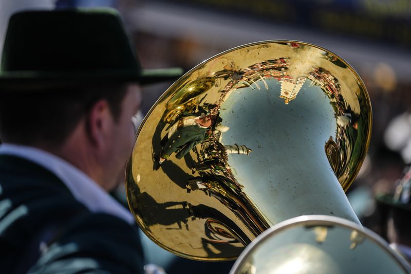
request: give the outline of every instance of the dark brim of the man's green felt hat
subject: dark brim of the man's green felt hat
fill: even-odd
[[[135,82],[140,85],[175,81],[183,75],[181,68],[141,69],[136,71],[76,71],[52,73],[42,71],[13,71],[0,77],[0,93],[41,90],[88,84]]]

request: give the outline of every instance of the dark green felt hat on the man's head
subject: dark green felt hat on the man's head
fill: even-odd
[[[114,9],[24,11],[11,16],[0,92],[72,84],[175,80],[180,68],[142,69]]]

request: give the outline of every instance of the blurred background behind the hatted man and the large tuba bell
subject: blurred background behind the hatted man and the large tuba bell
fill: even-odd
[[[375,196],[393,192],[411,162],[411,0],[0,0],[0,49],[17,10],[96,6],[120,11],[144,68],[188,71],[263,40],[305,41],[344,58],[373,109],[368,156],[347,194],[364,226],[386,237]],[[145,88],[144,114],[171,84]]]

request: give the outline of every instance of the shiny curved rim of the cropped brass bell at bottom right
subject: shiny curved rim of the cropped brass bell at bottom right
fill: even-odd
[[[390,255],[390,258],[393,259],[401,266],[404,273],[408,273],[411,271],[408,268],[407,262],[397,254],[391,247],[388,245],[386,241],[384,241],[380,235],[373,232],[372,230],[362,227],[356,223],[348,221],[344,218],[336,217],[336,216],[328,216],[328,215],[302,215],[298,217],[290,218],[286,221],[278,223],[254,239],[254,241],[248,245],[244,251],[239,255],[238,259],[234,263],[233,267],[231,268],[230,274],[239,274],[241,270],[241,266],[246,261],[248,255],[256,250],[258,247],[264,244],[265,240],[269,239],[270,237],[281,233],[289,228],[293,228],[296,226],[305,226],[305,227],[313,227],[313,226],[323,226],[323,227],[332,227],[332,226],[339,226],[340,228],[347,228],[351,230],[361,231],[364,233],[368,240],[371,240],[377,246],[381,247],[382,249],[386,250],[387,253]]]

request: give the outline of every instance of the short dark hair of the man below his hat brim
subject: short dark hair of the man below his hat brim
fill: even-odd
[[[65,87],[0,95],[0,136],[4,142],[59,147],[81,118],[106,99],[115,121],[121,114],[125,84]]]

